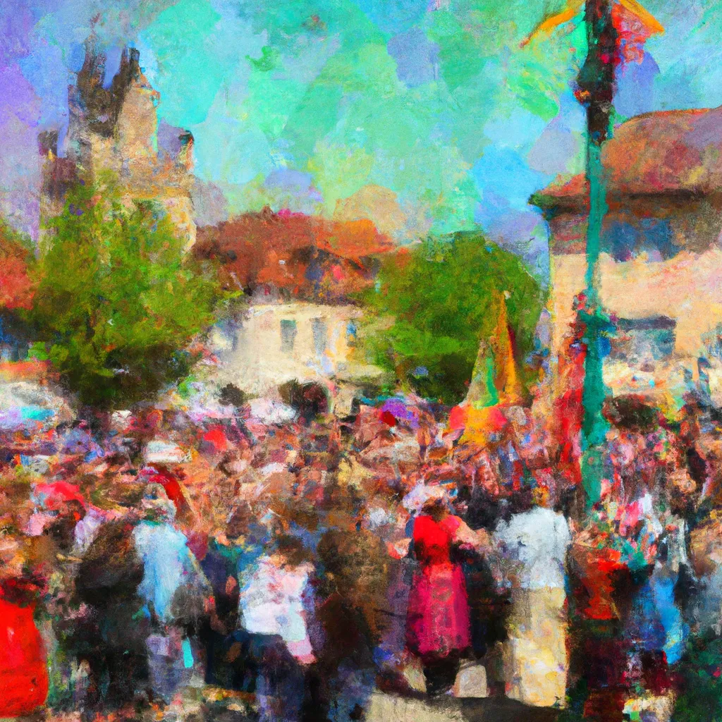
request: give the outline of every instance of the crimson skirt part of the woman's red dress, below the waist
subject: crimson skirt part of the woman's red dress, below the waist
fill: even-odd
[[[406,645],[419,656],[438,657],[471,645],[469,601],[459,565],[428,565],[414,573],[406,613]]]

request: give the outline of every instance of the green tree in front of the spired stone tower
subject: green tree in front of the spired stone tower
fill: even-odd
[[[84,404],[119,408],[188,373],[193,336],[221,297],[212,266],[152,202],[123,202],[111,178],[79,183],[51,219],[35,267],[33,352],[53,362]]]

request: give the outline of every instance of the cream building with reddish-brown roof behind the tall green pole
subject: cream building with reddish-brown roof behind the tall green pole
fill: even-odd
[[[601,300],[617,318],[605,364],[615,392],[679,401],[722,328],[722,108],[648,113],[603,153],[608,212]],[[549,222],[552,347],[558,355],[583,290],[588,188],[557,179],[531,201]]]

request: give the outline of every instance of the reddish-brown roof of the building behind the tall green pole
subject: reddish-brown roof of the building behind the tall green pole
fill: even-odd
[[[669,110],[631,118],[604,145],[612,196],[709,195],[722,191],[722,107]],[[531,197],[542,209],[580,208],[583,174],[557,178]]]

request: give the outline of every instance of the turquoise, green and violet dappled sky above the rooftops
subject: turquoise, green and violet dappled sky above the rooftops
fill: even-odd
[[[139,48],[161,121],[196,139],[201,221],[274,209],[365,214],[399,243],[480,225],[547,273],[527,204],[583,168],[563,0],[0,0],[0,213],[34,235],[38,131],[63,129],[91,26]],[[722,4],[646,0],[666,28],[622,69],[619,120],[722,105]],[[222,194],[222,196],[221,196]],[[207,207],[206,207],[207,206]]]

